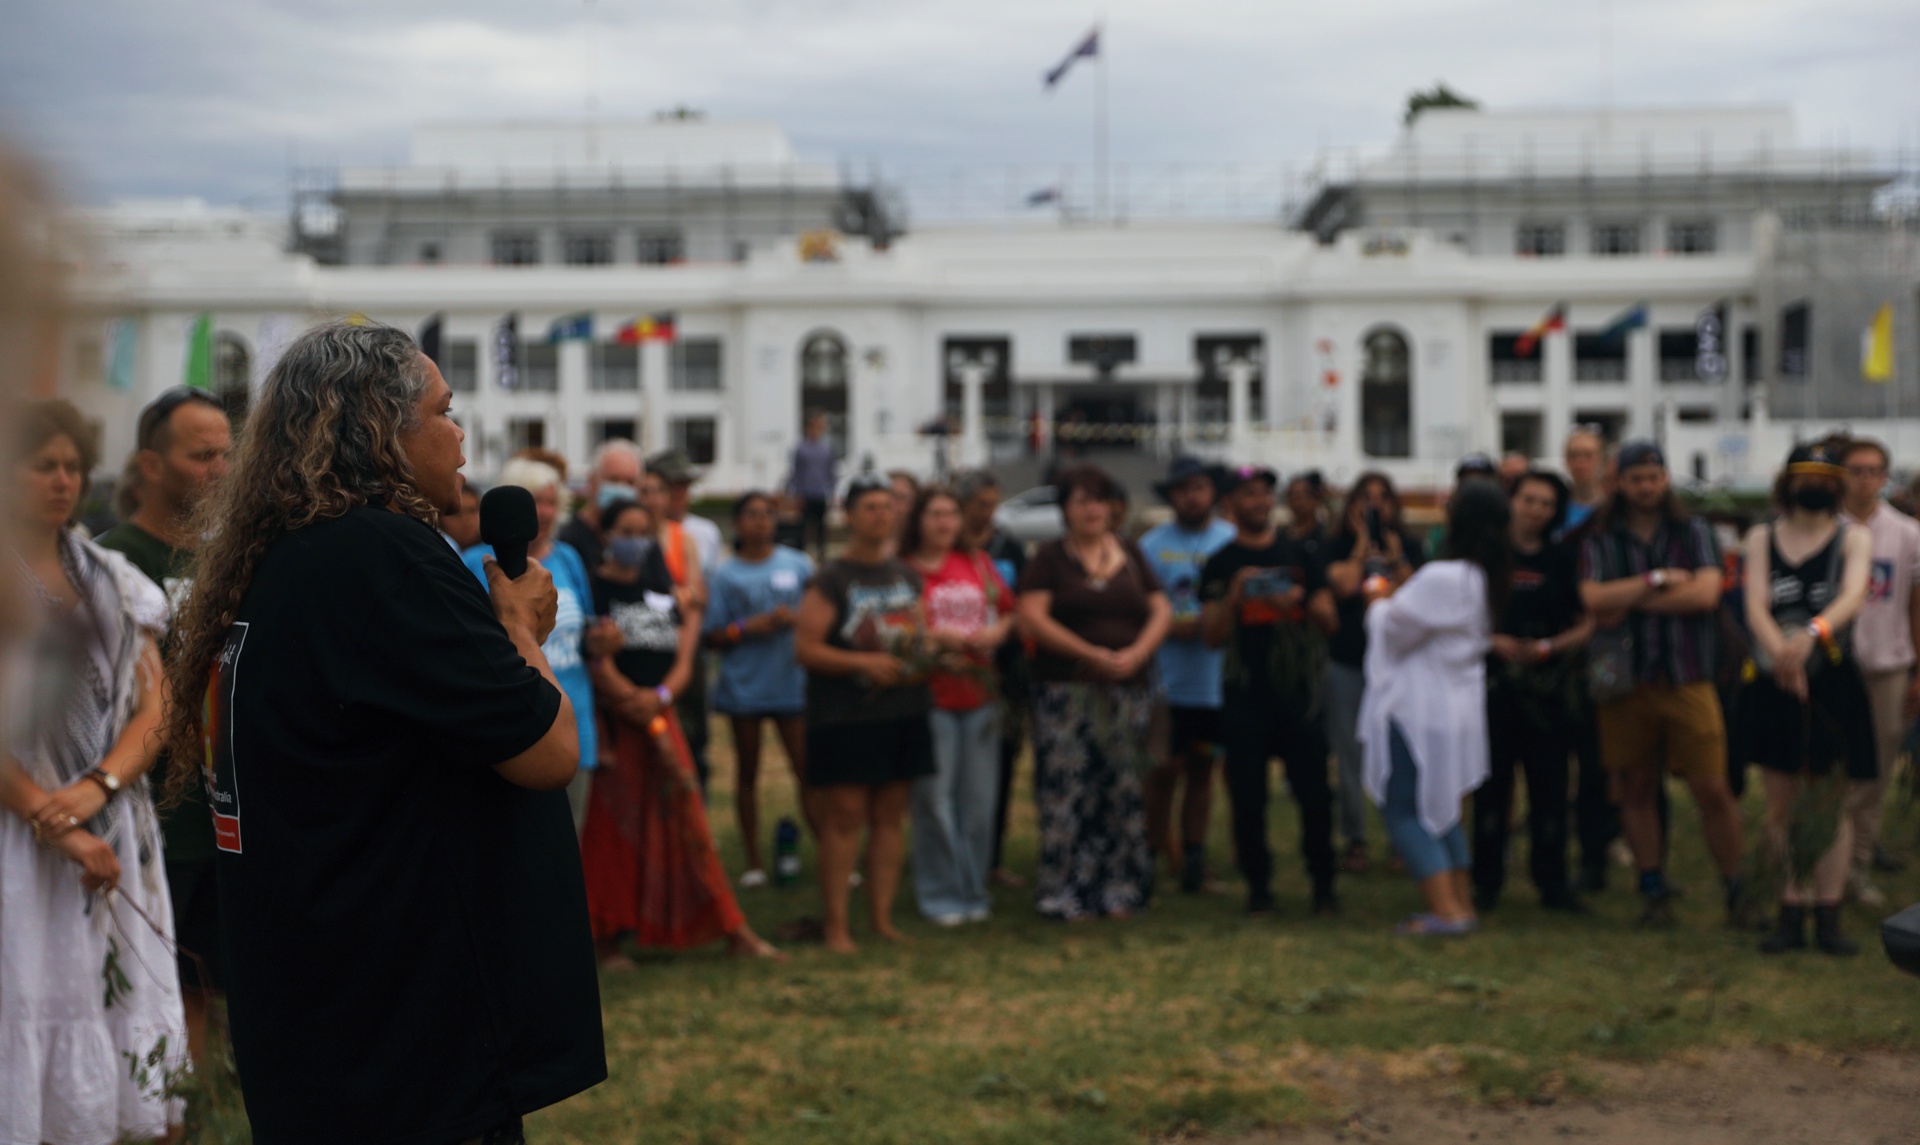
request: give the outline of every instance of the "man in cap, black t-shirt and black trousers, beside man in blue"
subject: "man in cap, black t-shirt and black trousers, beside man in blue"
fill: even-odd
[[[1246,909],[1273,911],[1267,793],[1269,761],[1279,755],[1300,805],[1300,851],[1313,880],[1313,909],[1331,913],[1336,907],[1332,786],[1321,674],[1334,605],[1319,563],[1273,523],[1275,484],[1279,476],[1263,467],[1236,469],[1223,482],[1235,538],[1200,574],[1202,632],[1208,646],[1225,649],[1219,722]]]

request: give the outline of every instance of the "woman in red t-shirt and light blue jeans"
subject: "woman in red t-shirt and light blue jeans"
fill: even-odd
[[[960,542],[960,501],[945,486],[914,498],[900,555],[925,584],[927,640],[943,661],[927,680],[935,770],[914,780],[914,893],[937,926],[985,922],[1000,793],[993,651],[1012,630],[1014,594]]]

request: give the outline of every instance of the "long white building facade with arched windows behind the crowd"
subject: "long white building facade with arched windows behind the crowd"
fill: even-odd
[[[1607,146],[1582,134],[1594,117],[1428,115],[1394,154],[1329,181],[1294,227],[1002,221],[877,242],[812,229],[756,232],[728,257],[588,265],[499,265],[472,256],[478,238],[453,238],[444,250],[472,257],[328,265],[288,254],[286,229],[253,217],[113,207],[84,219],[86,319],[65,392],[117,461],[138,407],[180,380],[198,315],[219,334],[227,388],[257,386],[305,325],[363,313],[419,330],[440,315],[478,480],[516,448],[578,467],[601,440],[632,436],[693,453],[712,492],[778,486],[808,409],[829,415],[843,471],[995,465],[1016,486],[1058,450],[1123,475],[1192,451],[1440,488],[1467,451],[1549,457],[1582,423],[1661,438],[1686,475],[1753,480],[1793,434],[1828,428],[1766,413],[1791,302],[1774,252],[1782,217],[1836,196],[1866,204],[1884,177],[1820,167],[1776,113],[1613,123]],[[1674,173],[1663,140],[1703,133],[1718,140],[1705,175],[1697,159]],[[1588,140],[1574,146],[1584,158],[1540,136]],[[1427,165],[1411,181],[1409,152]],[[808,179],[818,190],[818,171]],[[346,181],[355,194],[374,183]],[[407,211],[396,232],[428,242],[419,204]],[[348,213],[344,250],[369,244],[359,217]],[[685,244],[714,248],[699,223]],[[1565,329],[1517,353],[1557,304]],[[1644,325],[1603,336],[1634,307]],[[591,340],[543,342],[580,313]],[[513,390],[492,348],[505,315],[522,342]],[[616,330],[643,315],[672,315],[674,342],[620,346]],[[109,323],[138,327],[125,390],[106,382]],[[1907,453],[1920,450],[1912,415],[1920,400],[1905,419],[1853,426]],[[945,436],[924,432],[935,423]]]

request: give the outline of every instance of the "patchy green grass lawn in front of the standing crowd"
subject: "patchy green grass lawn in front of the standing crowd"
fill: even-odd
[[[730,747],[716,726],[712,816],[737,874]],[[770,834],[793,793],[778,747],[762,776]],[[1010,840],[1021,872],[1035,853],[1029,795],[1021,776]],[[1342,876],[1342,914],[1313,918],[1294,822],[1292,803],[1277,801],[1273,918],[1244,916],[1238,882],[1225,895],[1165,891],[1129,922],[1071,926],[1043,922],[1027,891],[1002,889],[993,922],[948,932],[920,920],[908,880],[897,918],[910,945],[864,941],[852,959],[789,947],[787,964],[732,961],[720,947],[641,953],[637,970],[601,978],[611,1078],[528,1118],[528,1137],[1235,1137],[1336,1116],[1317,1082],[1329,1059],[1367,1057],[1386,1078],[1438,1078],[1463,1097],[1505,1101],[1588,1091],[1596,1082],[1582,1064],[1594,1059],[1920,1049],[1920,984],[1878,949],[1891,907],[1849,913],[1866,947],[1859,959],[1763,959],[1753,936],[1722,926],[1718,880],[1680,788],[1672,870],[1690,893],[1668,934],[1634,930],[1624,870],[1592,899],[1592,918],[1540,911],[1524,838],[1507,903],[1471,939],[1394,938],[1417,893],[1384,868]],[[1213,824],[1213,865],[1225,872],[1223,792]],[[1899,803],[1887,838],[1910,849],[1916,826]],[[810,845],[803,855],[810,878]],[[1920,899],[1920,874],[1882,886],[1897,905]],[[760,934],[820,913],[810,882],[747,891],[741,905]],[[862,934],[864,924],[856,941]]]

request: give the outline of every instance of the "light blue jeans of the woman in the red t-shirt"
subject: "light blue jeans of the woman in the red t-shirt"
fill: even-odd
[[[927,918],[993,905],[993,818],[1000,795],[1000,707],[933,711],[933,774],[914,780],[914,895]]]

